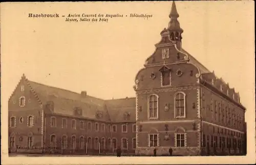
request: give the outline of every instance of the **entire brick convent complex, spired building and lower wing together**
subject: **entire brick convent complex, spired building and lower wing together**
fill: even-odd
[[[102,100],[23,75],[9,99],[9,151],[245,154],[239,93],[182,48],[178,17],[173,2],[161,41],[135,77],[134,98]]]

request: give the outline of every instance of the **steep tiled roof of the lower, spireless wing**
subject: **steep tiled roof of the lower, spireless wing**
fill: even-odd
[[[54,102],[56,114],[73,116],[74,108],[80,107],[84,118],[96,119],[96,113],[101,112],[103,116],[99,120],[135,121],[135,98],[103,100],[89,95],[84,97],[80,93],[39,84],[28,79],[27,81],[40,101],[44,104],[47,101]],[[129,114],[127,119],[124,118],[125,114]]]

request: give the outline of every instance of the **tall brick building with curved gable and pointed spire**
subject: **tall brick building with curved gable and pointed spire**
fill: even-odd
[[[182,48],[173,2],[168,28],[135,78],[137,154],[242,152],[245,107],[229,88]]]

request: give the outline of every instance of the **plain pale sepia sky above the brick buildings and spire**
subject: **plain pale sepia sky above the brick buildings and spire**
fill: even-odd
[[[5,5],[1,7],[1,99],[7,103],[23,73],[29,80],[87,91],[102,99],[135,97],[135,76],[167,28],[172,2]],[[184,30],[182,47],[239,92],[247,108],[246,121],[255,120],[253,2],[179,1],[176,7]],[[29,13],[123,17],[66,22],[64,17],[29,18]],[[153,17],[131,18],[131,13]]]

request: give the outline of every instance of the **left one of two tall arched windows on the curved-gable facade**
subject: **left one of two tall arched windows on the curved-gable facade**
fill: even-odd
[[[148,97],[148,118],[158,118],[158,96],[155,94]]]

